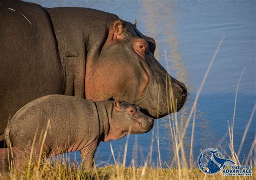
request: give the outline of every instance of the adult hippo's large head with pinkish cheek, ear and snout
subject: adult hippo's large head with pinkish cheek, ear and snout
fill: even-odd
[[[125,100],[154,118],[179,111],[186,100],[186,87],[156,60],[155,49],[154,39],[127,21],[115,21],[93,64],[97,68],[85,82],[86,98]]]

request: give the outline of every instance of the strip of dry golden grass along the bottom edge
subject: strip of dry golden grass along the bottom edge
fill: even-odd
[[[255,170],[255,169],[253,169]],[[217,175],[205,175],[199,169],[183,169],[182,179],[255,179],[252,177],[224,177]],[[44,163],[38,170],[24,168],[22,172],[11,171],[0,179],[179,179],[179,171],[176,169],[163,168],[123,168],[122,165],[109,165],[90,171],[84,171],[76,164],[55,161]]]

